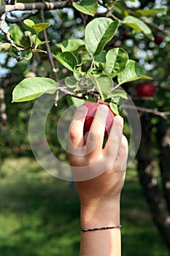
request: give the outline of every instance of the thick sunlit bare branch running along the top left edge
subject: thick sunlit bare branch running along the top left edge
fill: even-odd
[[[26,11],[26,10],[55,10],[55,9],[61,9],[63,7],[66,7],[68,4],[67,1],[55,1],[55,2],[37,2],[37,3],[17,3],[15,5],[4,5],[0,6],[0,13],[3,12],[12,12],[16,10],[20,11]]]

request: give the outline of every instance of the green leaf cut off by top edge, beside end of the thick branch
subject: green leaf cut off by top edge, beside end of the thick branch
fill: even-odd
[[[98,1],[96,0],[82,0],[80,4],[72,2],[72,5],[79,12],[85,13],[87,15],[94,16],[98,10]]]

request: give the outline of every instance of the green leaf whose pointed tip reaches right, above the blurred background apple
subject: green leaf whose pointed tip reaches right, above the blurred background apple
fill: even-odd
[[[117,75],[119,85],[139,79],[152,79],[144,75],[142,67],[132,60],[128,60],[125,70]]]

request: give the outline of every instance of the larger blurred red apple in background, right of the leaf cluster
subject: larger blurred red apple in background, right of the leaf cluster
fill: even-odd
[[[137,86],[136,93],[139,97],[152,97],[156,93],[156,87],[151,82],[144,82]]]

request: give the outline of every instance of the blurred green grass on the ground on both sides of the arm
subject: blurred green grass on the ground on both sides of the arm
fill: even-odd
[[[0,169],[0,255],[78,256],[80,203],[72,184],[34,159],[6,159]],[[152,224],[135,166],[122,193],[123,256],[168,256]],[[97,256],[97,255],[96,255]]]

